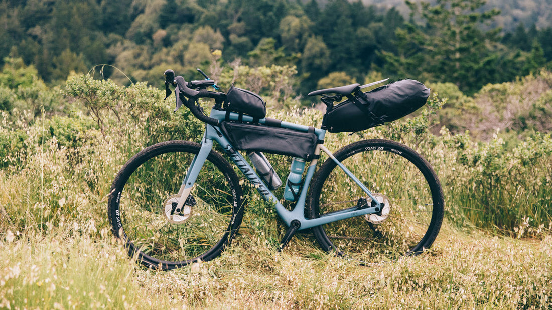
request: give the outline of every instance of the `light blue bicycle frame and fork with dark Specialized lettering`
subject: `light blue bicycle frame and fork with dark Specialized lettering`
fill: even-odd
[[[211,110],[210,117],[219,119],[219,121],[223,121],[225,119],[225,116],[226,116],[225,111],[219,111],[215,109]],[[237,121],[238,116],[239,116],[238,113],[231,112],[229,118],[231,121]],[[243,115],[242,121],[252,122],[253,117]],[[259,119],[258,122],[261,124],[264,124],[266,122],[266,118]],[[298,130],[300,132],[307,132],[309,130],[309,127],[307,126],[288,123],[288,122],[282,122],[281,127]],[[318,136],[319,140],[323,140],[326,134],[326,130],[316,128],[315,134]],[[216,141],[222,146],[222,148],[224,148],[224,150],[226,151],[226,154],[230,156],[230,159],[232,159],[234,164],[236,164],[238,168],[240,168],[240,170],[247,177],[247,179],[256,186],[257,190],[259,191],[259,193],[261,193],[264,199],[266,199],[268,202],[275,203],[275,207],[278,215],[285,222],[285,224],[288,225],[288,227],[290,226],[290,223],[293,220],[297,220],[300,222],[301,225],[299,230],[304,230],[304,229],[309,229],[311,227],[327,224],[330,222],[348,219],[350,217],[378,213],[378,211],[381,210],[380,202],[372,195],[369,189],[366,188],[364,184],[360,182],[358,178],[353,175],[353,173],[351,173],[351,171],[349,171],[345,166],[343,166],[341,162],[339,162],[336,159],[336,157],[334,157],[332,153],[328,149],[326,149],[325,146],[323,146],[322,144],[318,144],[316,146],[315,155],[319,155],[320,150],[328,154],[328,156],[330,156],[330,158],[336,162],[337,166],[339,166],[347,174],[347,176],[349,176],[355,183],[357,183],[358,186],[376,204],[375,206],[370,206],[369,208],[362,208],[362,209],[348,208],[348,209],[343,209],[332,213],[328,213],[325,215],[321,215],[317,219],[306,219],[305,218],[306,195],[307,195],[308,188],[310,186],[310,182],[312,180],[312,176],[314,176],[314,173],[316,170],[316,164],[318,163],[318,159],[314,159],[310,162],[309,168],[307,169],[306,177],[304,180],[304,186],[302,186],[301,193],[299,194],[299,199],[295,204],[295,208],[293,208],[293,210],[291,211],[288,211],[279,202],[279,199],[268,189],[266,184],[264,184],[262,179],[257,175],[253,167],[251,167],[251,165],[248,164],[248,162],[240,154],[240,152],[236,151],[236,149],[233,148],[233,146],[228,141],[228,139],[226,139],[224,134],[221,133],[220,129],[218,127],[214,127],[211,125],[206,125],[205,134],[203,136],[203,139],[201,139],[201,149],[199,150],[199,154],[197,154],[192,160],[192,164],[188,168],[186,176],[184,177],[184,180],[182,182],[182,186],[179,191],[179,194],[181,194],[180,204],[183,204],[188,198],[188,194],[192,190],[192,187],[194,185],[196,178],[199,175],[199,171],[201,170],[201,167],[203,166],[205,160],[207,159],[207,156],[209,155],[211,149],[213,149],[213,141]],[[179,208],[182,208],[182,205],[179,205]]]

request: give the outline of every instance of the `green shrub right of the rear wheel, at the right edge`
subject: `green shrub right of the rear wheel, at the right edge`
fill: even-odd
[[[475,143],[468,135],[443,133],[444,151],[454,157],[443,162],[440,177],[454,222],[518,237],[552,229],[550,134],[508,149],[496,135]]]

